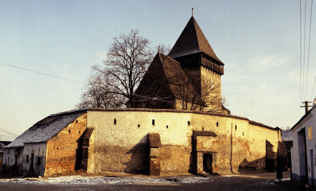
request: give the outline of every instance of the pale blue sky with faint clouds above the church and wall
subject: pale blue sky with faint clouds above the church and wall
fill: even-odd
[[[172,47],[192,5],[225,64],[222,94],[232,115],[272,127],[295,125],[305,114],[300,102],[311,101],[316,74],[313,12],[302,98],[299,0],[0,0],[0,63],[84,83],[121,32],[139,29],[153,47]],[[82,86],[0,64],[0,128],[19,135],[50,114],[73,109]]]

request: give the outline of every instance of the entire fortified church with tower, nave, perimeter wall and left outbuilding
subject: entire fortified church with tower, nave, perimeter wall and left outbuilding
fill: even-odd
[[[231,115],[218,99],[223,74],[224,63],[192,16],[170,53],[153,59],[135,92],[138,108],[50,115],[4,148],[2,173],[275,171],[286,157],[281,130]],[[217,103],[208,104],[210,97]]]

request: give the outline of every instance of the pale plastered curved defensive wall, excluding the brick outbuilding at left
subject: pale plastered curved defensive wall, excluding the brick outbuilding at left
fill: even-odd
[[[281,141],[278,130],[244,117],[184,110],[89,108],[87,128],[95,132],[87,172],[145,173],[154,159],[161,173],[203,173],[203,153],[213,173],[265,169],[267,142],[277,153]],[[159,134],[159,148],[148,134]]]

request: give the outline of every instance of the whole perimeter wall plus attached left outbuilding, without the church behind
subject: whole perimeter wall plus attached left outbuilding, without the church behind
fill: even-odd
[[[280,130],[234,115],[89,108],[50,115],[26,130],[5,147],[3,173],[274,171],[282,148]]]

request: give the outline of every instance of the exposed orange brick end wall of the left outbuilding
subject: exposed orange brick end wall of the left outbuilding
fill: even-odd
[[[74,171],[78,140],[86,130],[86,121],[84,113],[47,141],[45,176]]]

